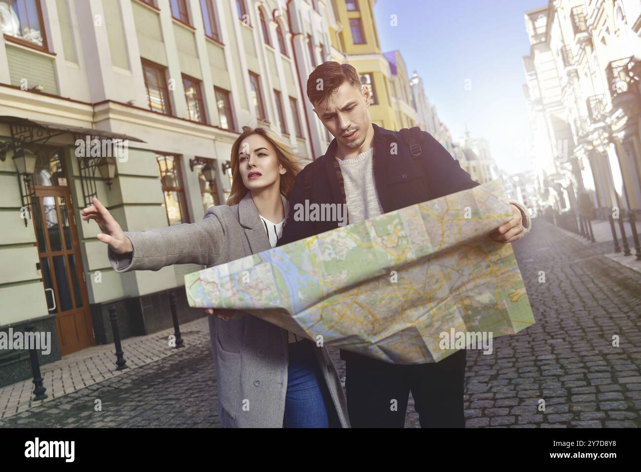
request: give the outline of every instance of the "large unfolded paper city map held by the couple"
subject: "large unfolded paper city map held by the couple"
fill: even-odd
[[[241,310],[320,344],[395,364],[534,323],[500,179],[185,276],[189,305]],[[446,335],[446,336],[445,336]]]

